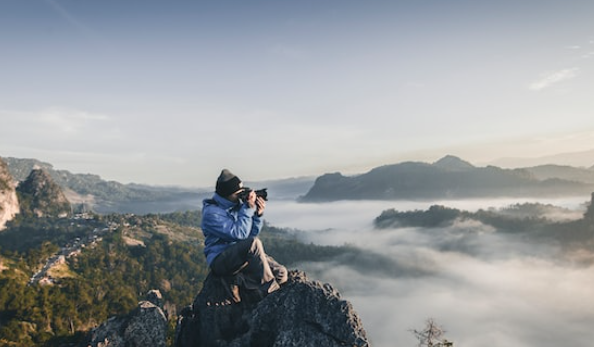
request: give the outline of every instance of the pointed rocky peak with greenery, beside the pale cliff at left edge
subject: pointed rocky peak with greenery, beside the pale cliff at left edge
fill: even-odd
[[[17,187],[22,213],[37,217],[65,217],[70,203],[64,192],[44,169],[33,169]]]

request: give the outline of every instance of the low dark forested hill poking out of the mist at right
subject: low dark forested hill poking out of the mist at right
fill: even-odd
[[[471,227],[463,227],[465,224]],[[424,211],[384,210],[375,218],[374,225],[377,229],[414,227],[435,233],[454,230],[456,236],[452,239],[455,241],[448,247],[462,252],[472,248],[464,244],[462,238],[480,234],[482,225],[488,226],[486,230],[490,230],[490,233],[516,235],[532,245],[549,242],[589,254],[594,244],[594,193],[586,211],[580,216],[576,215],[576,211],[541,203],[523,203],[476,212],[433,205]],[[462,227],[455,228],[456,225]],[[585,263],[586,259],[582,261]],[[594,258],[588,257],[587,261],[593,263]]]

